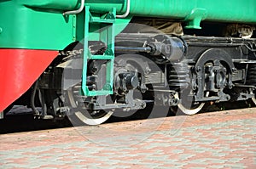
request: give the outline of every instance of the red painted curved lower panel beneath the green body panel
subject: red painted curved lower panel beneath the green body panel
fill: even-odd
[[[32,86],[58,51],[0,49],[0,112]]]

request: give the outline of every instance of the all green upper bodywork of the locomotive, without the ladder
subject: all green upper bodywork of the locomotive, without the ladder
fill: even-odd
[[[65,48],[84,38],[84,12],[63,16],[79,8],[80,0],[0,0],[0,48]],[[126,0],[86,0],[91,14],[107,14],[117,8],[124,14]],[[200,28],[201,20],[256,24],[255,0],[131,0],[127,19],[117,19],[115,34],[129,23],[132,16],[163,17],[187,22],[187,28]],[[90,25],[92,40],[98,37],[101,24]]]

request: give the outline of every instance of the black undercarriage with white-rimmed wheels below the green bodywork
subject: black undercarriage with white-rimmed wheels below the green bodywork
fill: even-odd
[[[97,54],[106,50],[99,42],[91,42],[90,47]],[[74,115],[95,125],[108,120],[114,111],[127,113],[150,105],[194,115],[210,102],[252,99],[255,104],[255,39],[120,34],[115,44],[113,94],[108,96],[83,96],[83,50],[78,45],[67,48],[72,49],[62,51],[38,80],[36,87],[44,105],[39,116]],[[79,69],[68,65],[70,62]],[[103,87],[107,63],[88,62],[90,90]],[[67,80],[64,90],[63,79]]]

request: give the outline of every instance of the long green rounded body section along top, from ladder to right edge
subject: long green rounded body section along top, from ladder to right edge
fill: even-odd
[[[115,7],[118,14],[123,14],[126,8],[125,0],[88,0],[85,3],[96,13]],[[189,28],[199,28],[201,20],[255,24],[255,8],[255,0],[131,0],[131,15],[186,20]]]

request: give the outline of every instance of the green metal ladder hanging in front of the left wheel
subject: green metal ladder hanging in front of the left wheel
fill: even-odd
[[[116,8],[108,14],[102,17],[93,16],[90,13],[90,6],[85,6],[85,21],[84,21],[84,66],[82,76],[82,92],[85,96],[100,96],[113,94],[113,60],[114,60],[114,22],[116,18]],[[103,28],[100,33],[100,38],[105,39],[107,44],[107,50],[102,55],[90,54],[89,50],[89,35],[90,35],[90,24],[106,24],[108,26]],[[106,83],[100,90],[89,90],[86,85],[87,79],[87,63],[90,59],[102,59],[108,60],[106,65]]]

